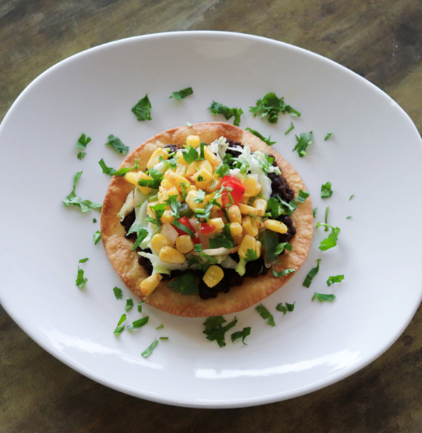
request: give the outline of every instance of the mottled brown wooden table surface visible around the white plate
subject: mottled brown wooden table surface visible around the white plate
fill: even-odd
[[[1,0],[0,119],[59,60],[115,39],[175,30],[244,32],[307,48],[381,87],[422,130],[418,0]],[[419,309],[382,357],[318,392],[255,408],[200,410],[98,385],[51,357],[0,307],[0,432],[422,432],[421,319]]]

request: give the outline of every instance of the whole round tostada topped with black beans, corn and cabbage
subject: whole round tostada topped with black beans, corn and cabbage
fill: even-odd
[[[117,274],[149,305],[184,317],[238,312],[305,262],[306,187],[252,133],[220,122],[172,128],[123,167],[132,170],[110,182],[101,235]]]

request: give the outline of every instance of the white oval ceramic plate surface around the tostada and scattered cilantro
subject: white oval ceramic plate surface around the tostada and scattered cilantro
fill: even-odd
[[[183,102],[172,91],[193,87]],[[302,116],[279,124],[248,112],[274,91]],[[152,121],[137,121],[132,107],[148,93]],[[241,127],[265,136],[298,170],[324,219],[341,229],[338,246],[321,252],[316,230],[305,265],[262,303],[271,328],[255,307],[236,314],[251,326],[248,346],[219,348],[205,340],[203,319],[173,317],[152,307],[148,326],[113,335],[124,301],[134,298],[92,235],[96,211],[65,208],[77,171],[77,194],[102,201],[110,177],[98,161],[122,160],[106,147],[109,134],[130,149],[186,121],[222,121],[212,100],[241,107]],[[288,135],[284,131],[295,125]],[[295,133],[313,131],[304,158],[292,152]],[[324,141],[326,133],[333,135]],[[75,142],[92,138],[79,161]],[[39,345],[89,378],[143,399],[179,406],[229,408],[266,404],[312,392],[358,371],[385,352],[404,331],[421,300],[422,147],[414,124],[378,88],[319,55],[245,34],[181,32],[140,36],[91,48],[41,74],[15,101],[0,128],[2,272],[0,300]],[[333,196],[321,200],[321,184]],[[354,198],[349,200],[351,194]],[[346,217],[352,218],[347,220]],[[88,278],[75,286],[78,260]],[[310,288],[302,286],[321,258]],[[330,275],[345,281],[327,288]],[[259,280],[257,280],[259,284]],[[312,302],[314,291],[334,302]],[[283,316],[279,302],[296,302]],[[135,305],[138,300],[135,299]],[[136,307],[129,321],[139,319]],[[226,317],[228,321],[234,314]],[[160,324],[165,328],[156,330]],[[233,331],[231,331],[233,332]],[[147,359],[141,352],[159,336]]]

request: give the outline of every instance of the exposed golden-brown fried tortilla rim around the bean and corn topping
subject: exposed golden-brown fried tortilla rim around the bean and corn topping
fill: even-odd
[[[274,152],[274,149],[267,146],[260,138],[257,138],[248,131],[222,122],[208,122],[194,124],[191,127],[181,126],[164,131],[153,138],[146,140],[139,147],[136,147],[124,159],[119,168],[131,167],[135,160],[139,159],[142,171],[146,170],[146,164],[151,154],[157,147],[165,145],[182,145],[188,135],[198,135],[201,141],[210,144],[212,141],[224,136],[230,140],[240,141],[253,151],[260,150],[265,154],[271,154],[281,168],[283,178],[288,182],[290,188],[298,196],[299,189],[306,190],[305,184],[295,169]],[[117,274],[124,281],[124,284],[139,298],[145,300],[141,292],[140,284],[148,277],[146,270],[138,263],[138,254],[131,251],[134,241],[124,238],[124,228],[117,217],[120,208],[126,200],[127,194],[133,189],[124,178],[113,176],[108,187],[101,211],[101,237],[110,262]],[[286,252],[280,256],[280,263],[273,265],[271,269],[280,272],[283,269],[293,268],[296,271],[305,262],[312,244],[313,223],[312,204],[309,197],[305,203],[298,203],[298,208],[290,217],[296,227],[296,234],[290,240],[292,245],[291,253]],[[148,304],[161,309],[162,311],[183,317],[209,317],[222,314],[238,312],[260,302],[262,299],[281,288],[294,273],[286,274],[276,278],[272,272],[259,277],[245,277],[241,286],[230,288],[229,293],[219,293],[217,298],[203,300],[198,295],[180,295],[165,286],[166,281],[161,281],[155,289]]]

